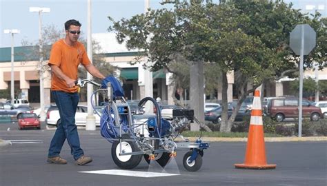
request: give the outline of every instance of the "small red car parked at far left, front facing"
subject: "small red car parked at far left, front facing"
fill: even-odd
[[[35,113],[23,113],[18,116],[18,126],[19,130],[23,128],[36,127],[38,130],[41,129],[41,124],[37,114]]]

